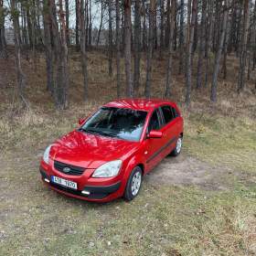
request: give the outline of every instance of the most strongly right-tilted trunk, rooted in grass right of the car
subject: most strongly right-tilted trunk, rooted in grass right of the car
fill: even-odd
[[[222,19],[222,27],[220,30],[220,37],[219,37],[219,48],[217,50],[217,53],[215,55],[215,63],[214,63],[214,71],[212,75],[212,83],[211,83],[211,92],[210,92],[210,100],[213,102],[217,101],[217,86],[218,86],[218,75],[219,75],[219,61],[221,57],[221,53],[223,50],[223,44],[224,44],[224,38],[228,23],[228,14],[229,9],[227,5],[227,1],[225,0],[225,4],[223,6],[223,19]]]

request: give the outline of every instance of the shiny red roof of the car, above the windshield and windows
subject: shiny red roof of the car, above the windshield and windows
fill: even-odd
[[[163,105],[173,105],[176,104],[172,101],[166,101],[162,99],[121,99],[117,101],[111,101],[105,104],[105,107],[112,107],[112,108],[125,108],[125,109],[133,109],[133,110],[140,110],[140,111],[152,111],[155,108]]]

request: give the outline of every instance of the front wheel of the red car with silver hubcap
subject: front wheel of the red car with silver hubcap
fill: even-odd
[[[142,169],[141,167],[136,166],[133,169],[131,175],[129,176],[129,179],[125,187],[125,191],[123,194],[123,197],[125,200],[132,201],[133,198],[139,194],[140,188],[142,187],[142,181],[143,181]],[[134,184],[134,182],[137,182],[137,186],[136,184]]]

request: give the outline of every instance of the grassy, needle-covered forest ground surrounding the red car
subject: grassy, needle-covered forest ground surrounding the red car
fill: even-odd
[[[240,96],[235,92],[232,58],[227,80],[219,80],[217,105],[208,101],[208,89],[194,90],[187,111],[184,78],[176,75],[172,100],[185,118],[183,152],[145,176],[132,202],[93,204],[42,184],[38,164],[45,147],[115,98],[107,58],[96,52],[89,58],[90,100],[82,100],[73,54],[64,112],[55,111],[45,90],[43,59],[37,70],[23,60],[26,111],[16,102],[13,57],[0,60],[0,255],[255,255],[256,99],[252,83]],[[165,59],[155,59],[155,97],[163,95],[164,67]],[[143,81],[144,70],[143,62]]]

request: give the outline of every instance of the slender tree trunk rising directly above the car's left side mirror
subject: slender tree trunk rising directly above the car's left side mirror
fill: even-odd
[[[88,99],[88,69],[87,69],[87,51],[86,51],[86,26],[85,26],[85,3],[84,0],[78,0],[79,4],[79,27],[80,27],[80,53],[81,69],[83,76],[83,99]]]

